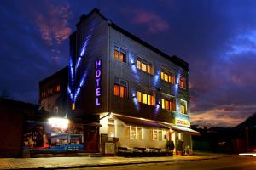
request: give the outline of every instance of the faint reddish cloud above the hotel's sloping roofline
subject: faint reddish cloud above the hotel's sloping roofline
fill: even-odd
[[[170,26],[159,15],[144,9],[137,10],[124,10],[125,13],[132,14],[131,22],[137,25],[148,27],[150,33],[158,33],[166,31]]]

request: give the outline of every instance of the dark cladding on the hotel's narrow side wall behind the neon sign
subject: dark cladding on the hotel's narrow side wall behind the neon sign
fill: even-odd
[[[76,116],[86,116],[88,114],[99,113],[107,109],[107,26],[98,14],[91,14],[77,27],[77,57],[84,48],[84,56],[77,69],[76,86],[86,74],[84,85],[76,101]],[[87,46],[84,42],[87,40]],[[102,96],[100,106],[96,106],[96,59],[102,59]]]

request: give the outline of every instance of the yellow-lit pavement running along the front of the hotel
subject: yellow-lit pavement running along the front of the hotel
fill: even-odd
[[[201,161],[218,159],[218,154],[195,154],[194,156],[165,157],[48,157],[48,158],[1,158],[0,169],[68,169],[104,167],[172,161]]]

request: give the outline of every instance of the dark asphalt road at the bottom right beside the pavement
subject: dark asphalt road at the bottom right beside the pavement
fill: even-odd
[[[111,167],[85,167],[79,169],[92,170],[256,170],[256,157],[253,156],[229,156],[215,160],[205,161],[180,161],[166,163],[148,163]],[[76,169],[78,170],[78,169]]]

